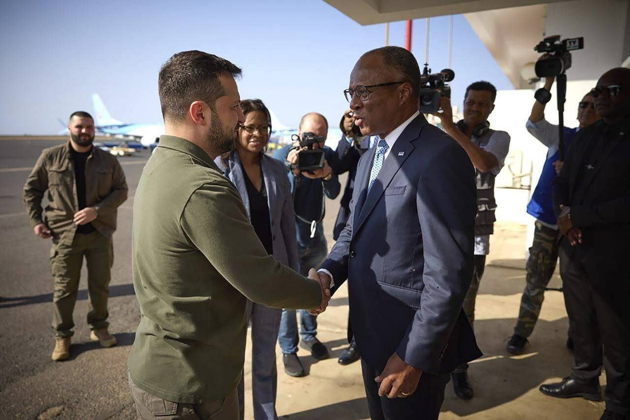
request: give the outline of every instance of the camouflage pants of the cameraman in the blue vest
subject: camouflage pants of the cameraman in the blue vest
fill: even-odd
[[[534,225],[534,243],[529,248],[529,259],[525,270],[527,276],[525,290],[520,300],[518,320],[514,327],[515,334],[529,337],[541,313],[542,300],[547,284],[556,269],[558,261],[558,230],[536,222]]]

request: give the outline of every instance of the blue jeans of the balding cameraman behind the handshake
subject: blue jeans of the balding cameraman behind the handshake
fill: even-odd
[[[297,254],[300,258],[300,273],[302,276],[309,274],[309,269],[319,268],[324,258],[328,255],[328,245],[326,238],[321,236],[319,240],[313,242],[312,247],[301,247],[297,245]],[[297,315],[295,310],[282,310],[282,318],[280,319],[280,334],[278,334],[278,343],[282,354],[297,353],[297,343],[299,337],[297,335]],[[302,340],[309,340],[317,335],[317,317],[301,309],[300,311],[300,336]]]

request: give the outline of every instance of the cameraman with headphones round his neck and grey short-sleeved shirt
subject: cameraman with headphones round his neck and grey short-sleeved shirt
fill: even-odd
[[[495,108],[496,88],[487,81],[478,81],[466,88],[464,119],[454,123],[450,100],[442,96],[440,118],[442,129],[459,143],[473,162],[477,180],[477,218],[475,221],[473,281],[464,300],[464,312],[471,325],[479,281],[490,253],[490,235],[495,218],[495,178],[503,168],[510,148],[510,134],[490,129],[488,116]],[[473,398],[468,382],[468,365],[464,363],[452,373],[455,395],[461,399]]]

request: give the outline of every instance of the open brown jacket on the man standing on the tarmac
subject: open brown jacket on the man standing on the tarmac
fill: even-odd
[[[24,204],[35,227],[45,223],[58,240],[71,245],[76,231],[74,214],[79,204],[74,179],[70,142],[44,149],[24,185]],[[116,209],[127,199],[127,182],[118,159],[93,147],[85,165],[85,202],[95,207],[98,217],[92,225],[110,237],[116,230]],[[48,190],[48,206],[42,198]],[[43,214],[42,214],[43,213]]]

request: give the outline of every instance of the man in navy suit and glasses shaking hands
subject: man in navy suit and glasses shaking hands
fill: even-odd
[[[473,274],[475,173],[418,111],[420,69],[400,47],[366,52],[345,95],[362,134],[350,218],[319,276],[348,279],[350,326],[372,419],[436,419],[455,366],[481,356],[462,303]]]

